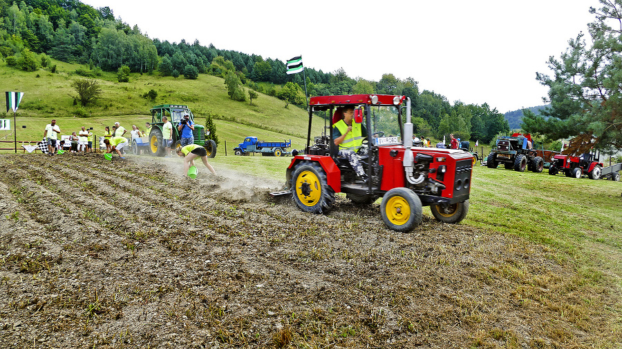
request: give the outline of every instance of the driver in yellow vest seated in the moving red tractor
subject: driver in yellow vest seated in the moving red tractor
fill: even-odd
[[[361,157],[357,154],[357,150],[363,145],[363,140],[367,138],[367,129],[362,123],[354,121],[354,108],[337,108],[336,112],[340,111],[343,117],[332,126],[332,140],[335,146],[339,146],[337,156],[348,159],[352,168],[357,172],[357,176],[367,181]]]

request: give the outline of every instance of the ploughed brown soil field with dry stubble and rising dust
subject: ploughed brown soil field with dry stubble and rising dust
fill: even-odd
[[[178,159],[0,166],[6,348],[619,343],[616,295],[543,246],[428,216],[393,232],[377,205],[343,197],[311,215],[267,197],[283,183],[223,168],[184,179]]]

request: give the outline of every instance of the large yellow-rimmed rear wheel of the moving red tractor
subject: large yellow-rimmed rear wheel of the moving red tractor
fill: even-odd
[[[334,190],[318,163],[299,163],[292,175],[291,188],[296,205],[305,212],[326,213],[334,205]]]

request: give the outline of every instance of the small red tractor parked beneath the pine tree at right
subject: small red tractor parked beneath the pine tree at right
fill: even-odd
[[[590,179],[600,179],[603,172],[603,163],[599,162],[599,153],[586,152],[580,157],[556,154],[549,166],[549,175],[563,172],[566,177],[581,178],[587,175]]]

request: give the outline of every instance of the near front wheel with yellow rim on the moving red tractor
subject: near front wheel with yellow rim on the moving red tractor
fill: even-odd
[[[408,232],[421,223],[421,200],[413,190],[393,188],[382,197],[380,215],[390,230]]]

